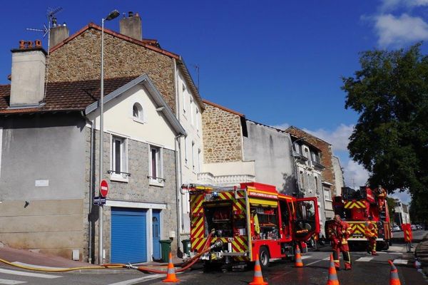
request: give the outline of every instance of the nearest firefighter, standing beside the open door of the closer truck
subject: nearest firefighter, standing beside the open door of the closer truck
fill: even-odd
[[[347,222],[342,221],[339,214],[335,215],[335,222],[330,224],[328,234],[332,242],[333,259],[335,261],[335,267],[340,270],[339,255],[340,252],[343,254],[343,261],[345,261],[345,270],[351,269],[351,256],[350,248],[347,244],[352,234],[352,228]]]

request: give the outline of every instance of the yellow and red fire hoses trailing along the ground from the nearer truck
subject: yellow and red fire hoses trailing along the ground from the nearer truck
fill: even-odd
[[[188,270],[193,264],[196,263],[196,261],[199,260],[199,258],[205,254],[206,252],[209,252],[211,249],[215,247],[220,247],[222,242],[217,241],[214,244],[212,244],[210,247],[208,247],[208,244],[210,243],[210,237],[213,233],[210,233],[207,237],[207,241],[204,244],[203,250],[196,254],[194,257],[189,259],[188,261],[185,261],[181,266],[180,269],[175,270],[175,272],[183,272],[185,270]],[[18,267],[21,269],[26,270],[32,270],[32,271],[44,271],[44,272],[51,272],[51,273],[58,273],[58,272],[66,272],[66,271],[75,271],[75,270],[91,270],[91,269],[136,269],[141,272],[147,272],[147,273],[155,273],[155,274],[164,274],[166,271],[164,270],[157,270],[157,269],[151,269],[149,266],[133,266],[132,264],[101,264],[99,266],[80,266],[80,267],[70,267],[70,268],[42,268],[42,267],[32,267],[27,266],[23,264],[16,264],[12,263],[10,261],[6,261],[4,259],[0,259],[0,262],[4,264],[8,264],[9,266]]]

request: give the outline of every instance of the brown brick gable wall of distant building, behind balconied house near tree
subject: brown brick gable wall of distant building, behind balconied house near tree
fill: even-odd
[[[321,164],[325,167],[322,170],[322,181],[326,181],[332,184],[330,188],[332,195],[335,194],[335,170],[333,169],[332,164],[332,145],[330,143],[321,140],[320,138],[310,135],[299,128],[290,127],[285,130],[287,133],[297,136],[298,138],[305,137],[305,140],[312,145],[315,145],[319,150],[321,150]]]

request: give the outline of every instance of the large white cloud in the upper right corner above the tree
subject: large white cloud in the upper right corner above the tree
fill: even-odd
[[[402,14],[374,16],[374,29],[379,36],[379,46],[403,46],[406,43],[428,39],[428,24],[419,17]]]

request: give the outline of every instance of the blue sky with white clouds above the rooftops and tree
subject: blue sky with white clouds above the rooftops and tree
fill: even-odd
[[[58,6],[58,23],[66,22],[71,33],[91,21],[101,24],[113,9],[138,12],[143,37],[183,56],[195,81],[193,66],[200,66],[203,98],[250,120],[295,125],[331,142],[351,187],[362,185],[367,173],[347,155],[357,114],[344,108],[340,77],[360,67],[360,51],[428,38],[428,0],[7,1],[0,19],[0,83],[8,83],[10,49],[20,39],[41,38],[26,28],[43,27],[46,9]],[[106,27],[118,31],[118,20]]]

